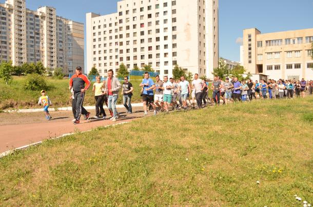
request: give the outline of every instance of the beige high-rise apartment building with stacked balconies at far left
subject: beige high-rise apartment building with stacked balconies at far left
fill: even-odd
[[[0,4],[0,21],[0,61],[41,61],[65,73],[84,67],[84,24],[57,16],[55,8],[32,11],[25,0],[8,0]]]

